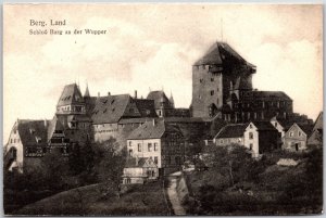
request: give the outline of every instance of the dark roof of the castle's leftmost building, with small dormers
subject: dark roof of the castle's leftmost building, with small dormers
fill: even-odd
[[[18,120],[17,130],[22,144],[27,146],[45,146],[47,144],[47,129],[50,120]],[[37,138],[41,141],[37,143]]]

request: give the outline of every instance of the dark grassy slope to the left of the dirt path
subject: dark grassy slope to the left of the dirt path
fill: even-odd
[[[134,185],[118,197],[103,184],[61,192],[27,205],[15,215],[168,215],[160,182]]]

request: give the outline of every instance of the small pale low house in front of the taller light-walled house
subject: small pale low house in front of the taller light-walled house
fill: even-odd
[[[145,183],[146,181],[156,180],[159,169],[150,157],[129,157],[126,161],[123,184]]]

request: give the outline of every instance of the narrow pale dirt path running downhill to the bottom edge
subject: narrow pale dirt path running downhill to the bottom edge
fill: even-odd
[[[180,171],[174,172],[168,176],[168,185],[167,185],[167,196],[172,204],[173,210],[175,215],[186,215],[186,210],[181,205],[181,202],[177,194],[177,180],[181,176]]]

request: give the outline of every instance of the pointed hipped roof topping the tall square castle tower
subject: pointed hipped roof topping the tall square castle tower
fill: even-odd
[[[248,63],[238,52],[236,52],[229,44],[225,42],[215,42],[203,57],[198,60],[193,65],[222,65],[224,59],[234,57],[239,63],[246,64],[251,68],[255,66]]]

